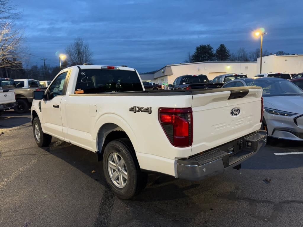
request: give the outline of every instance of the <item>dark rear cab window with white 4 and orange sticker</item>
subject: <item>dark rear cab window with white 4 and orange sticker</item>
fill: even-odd
[[[135,71],[116,69],[79,70],[75,94],[143,91]]]

